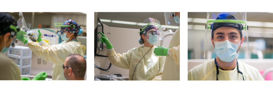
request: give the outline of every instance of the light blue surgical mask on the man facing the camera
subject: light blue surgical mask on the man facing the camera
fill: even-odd
[[[238,50],[239,44],[230,42],[228,40],[223,42],[214,42],[214,47],[215,47],[214,50],[216,55],[220,58],[220,60],[224,62],[231,62],[238,55],[237,50]]]

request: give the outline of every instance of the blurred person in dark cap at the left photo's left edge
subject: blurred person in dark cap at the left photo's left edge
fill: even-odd
[[[21,80],[18,66],[3,54],[15,43],[16,31],[10,27],[17,26],[16,23],[17,21],[10,14],[0,13],[0,80]]]

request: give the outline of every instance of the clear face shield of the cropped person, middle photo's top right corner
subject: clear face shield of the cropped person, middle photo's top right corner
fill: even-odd
[[[180,26],[179,23],[176,23],[174,20],[175,12],[164,12],[166,29],[176,31]],[[178,16],[178,15],[177,15]]]

